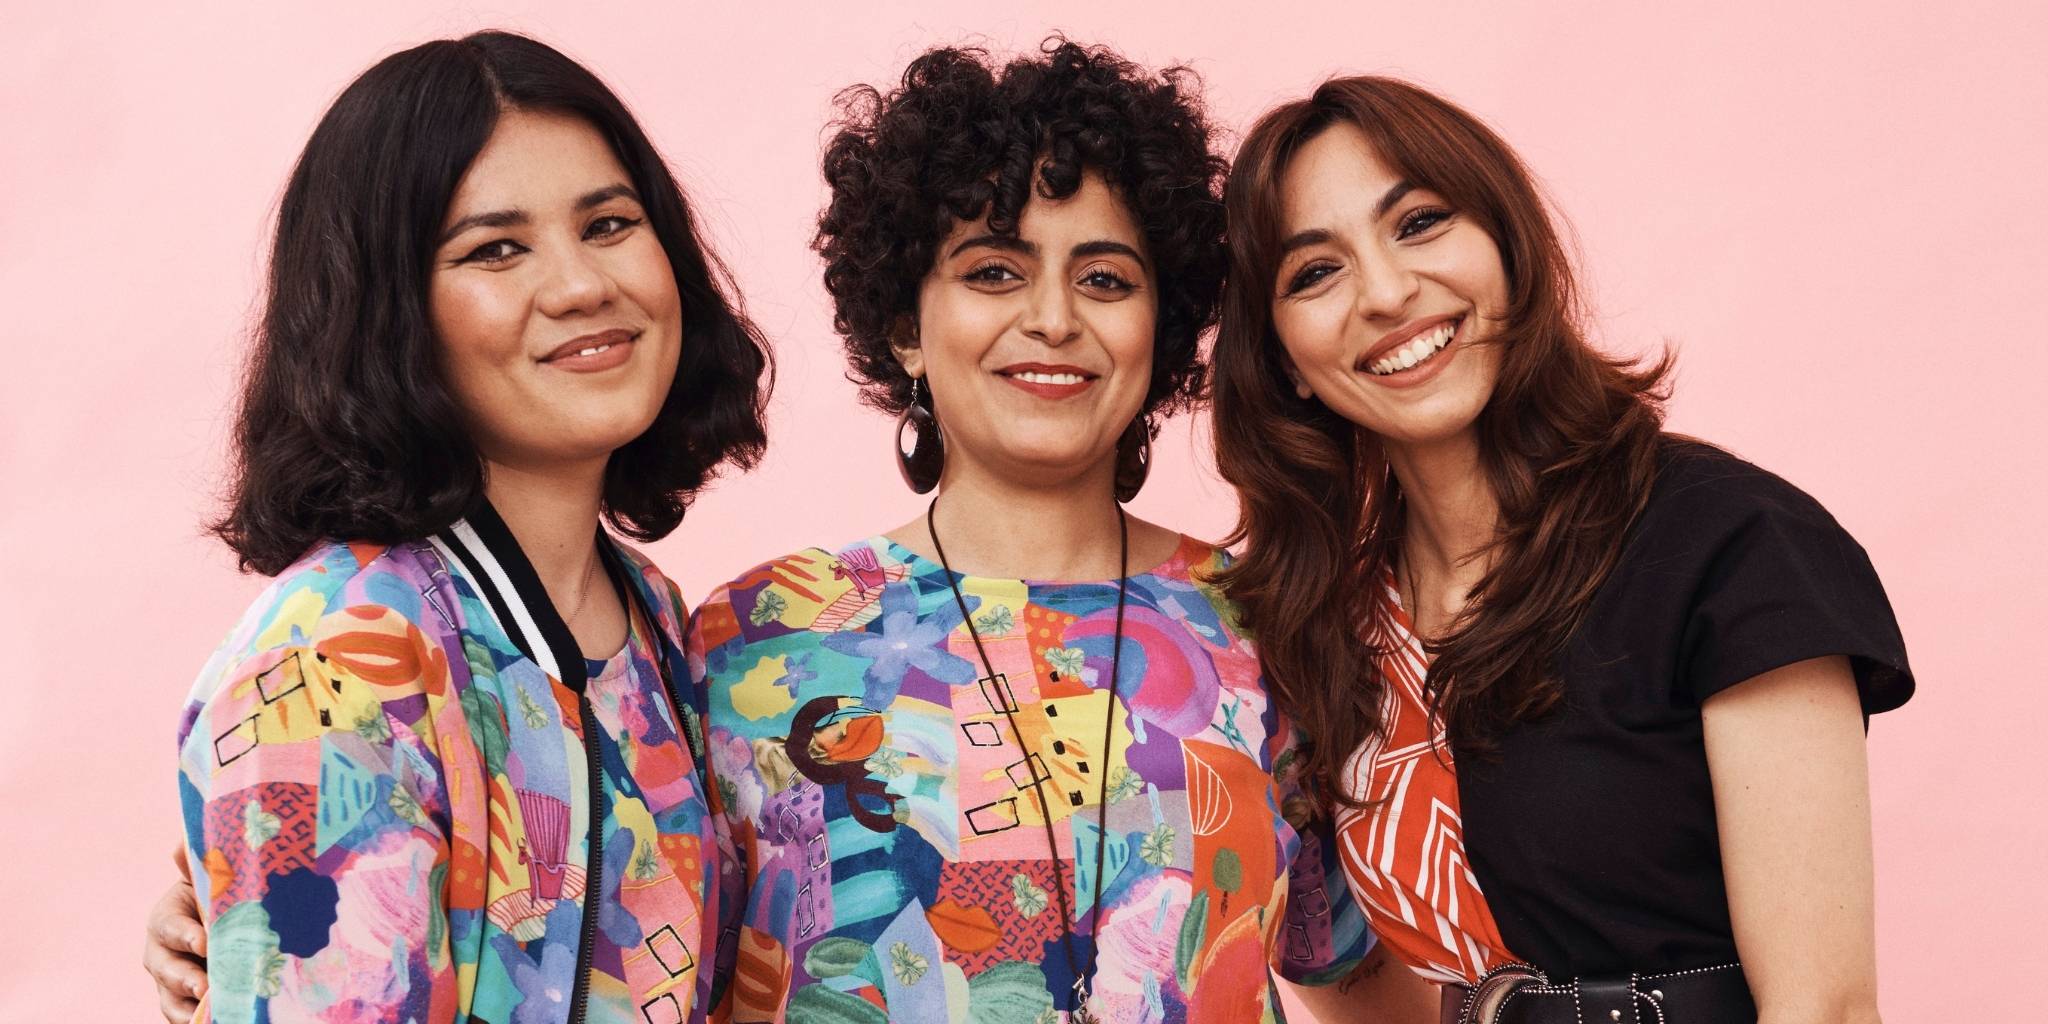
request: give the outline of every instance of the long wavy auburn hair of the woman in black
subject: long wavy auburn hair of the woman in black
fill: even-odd
[[[1507,309],[1489,344],[1499,379],[1477,420],[1499,500],[1491,567],[1450,629],[1427,641],[1430,711],[1452,748],[1552,707],[1552,659],[1585,616],[1649,500],[1669,354],[1642,367],[1585,340],[1571,260],[1513,150],[1452,102],[1393,78],[1333,78],[1268,113],[1225,190],[1231,276],[1214,348],[1214,438],[1241,512],[1243,557],[1221,584],[1257,641],[1268,686],[1300,723],[1307,793],[1325,811],[1346,760],[1380,729],[1376,655],[1391,627],[1376,594],[1401,551],[1401,483],[1378,438],[1296,397],[1274,332],[1280,178],[1303,143],[1354,125],[1401,176],[1499,246]]]

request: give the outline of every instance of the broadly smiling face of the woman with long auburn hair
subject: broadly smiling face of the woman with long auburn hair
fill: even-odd
[[[1303,397],[1397,446],[1470,434],[1507,309],[1493,238],[1343,123],[1288,164],[1280,217],[1272,317]]]

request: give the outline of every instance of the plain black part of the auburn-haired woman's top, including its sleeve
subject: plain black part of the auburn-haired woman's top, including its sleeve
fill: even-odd
[[[1866,715],[1913,696],[1870,559],[1784,479],[1671,438],[1624,545],[1559,657],[1559,707],[1495,760],[1458,752],[1493,920],[1556,979],[1735,963],[1708,696],[1823,655],[1849,655]]]

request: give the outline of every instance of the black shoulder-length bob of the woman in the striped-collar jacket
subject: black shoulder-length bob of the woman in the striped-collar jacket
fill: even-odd
[[[385,57],[319,119],[285,186],[213,532],[266,575],[328,539],[399,543],[483,500],[483,459],[436,360],[426,283],[449,201],[504,111],[594,125],[625,164],[682,297],[676,381],[604,469],[604,516],[653,541],[723,463],[766,446],[768,346],[682,188],[612,90],[532,39],[477,33]]]

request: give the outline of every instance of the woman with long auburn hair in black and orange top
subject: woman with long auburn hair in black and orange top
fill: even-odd
[[[1227,207],[1221,580],[1374,932],[1458,1020],[1874,1020],[1864,723],[1913,678],[1864,551],[1661,430],[1458,106],[1325,82]]]

